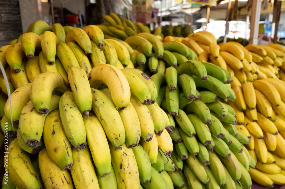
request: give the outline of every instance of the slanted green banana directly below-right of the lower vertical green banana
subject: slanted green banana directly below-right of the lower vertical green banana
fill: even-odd
[[[190,121],[190,119],[187,117],[187,114],[183,110],[181,109],[178,110],[178,115],[175,116],[175,120],[180,126],[180,128],[185,132],[185,134],[187,134],[190,137],[196,135],[196,131],[192,122]]]

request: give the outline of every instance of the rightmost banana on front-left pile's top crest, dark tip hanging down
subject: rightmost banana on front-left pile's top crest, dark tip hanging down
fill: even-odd
[[[87,35],[89,36],[91,41],[94,41],[97,44],[97,47],[99,49],[102,49],[102,46],[104,44],[104,34],[103,31],[96,25],[88,25],[82,28]]]

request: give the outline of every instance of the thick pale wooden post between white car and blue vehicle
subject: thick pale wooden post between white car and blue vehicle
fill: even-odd
[[[261,0],[252,0],[249,44],[257,45]]]

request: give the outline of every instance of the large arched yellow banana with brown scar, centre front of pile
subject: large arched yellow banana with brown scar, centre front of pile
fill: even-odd
[[[109,78],[116,79],[109,80]],[[98,88],[103,83],[109,87],[117,110],[123,110],[129,104],[131,92],[128,80],[116,67],[108,64],[99,64],[91,70],[88,79],[90,86],[93,88]],[[113,81],[117,81],[118,83]],[[117,86],[121,86],[120,93],[117,92]]]

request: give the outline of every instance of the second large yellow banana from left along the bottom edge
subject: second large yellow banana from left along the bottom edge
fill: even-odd
[[[46,188],[73,188],[68,170],[62,170],[50,158],[46,148],[41,150],[38,156],[40,173]]]

